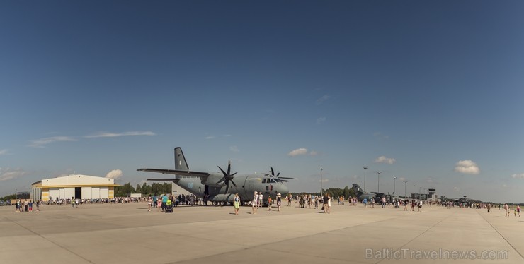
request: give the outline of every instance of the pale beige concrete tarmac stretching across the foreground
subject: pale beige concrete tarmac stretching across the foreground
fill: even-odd
[[[524,215],[498,208],[40,209],[0,207],[0,263],[524,263]]]

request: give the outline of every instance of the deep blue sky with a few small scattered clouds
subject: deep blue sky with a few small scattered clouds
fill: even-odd
[[[522,1],[4,1],[0,196],[172,168],[524,202]]]

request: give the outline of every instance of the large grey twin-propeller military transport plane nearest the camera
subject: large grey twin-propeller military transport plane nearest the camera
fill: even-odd
[[[231,173],[231,162],[227,164],[227,172],[218,167],[220,172],[193,172],[189,169],[186,158],[180,147],[175,148],[175,169],[137,169],[141,172],[157,172],[161,174],[174,174],[171,179],[147,179],[148,181],[172,181],[186,191],[199,198],[205,198],[215,203],[233,202],[234,194],[239,193],[242,203],[253,200],[254,192],[262,192],[264,199],[268,196],[275,198],[278,193],[285,196],[288,193],[287,182],[289,177],[275,175],[273,168],[271,174],[244,174]]]

